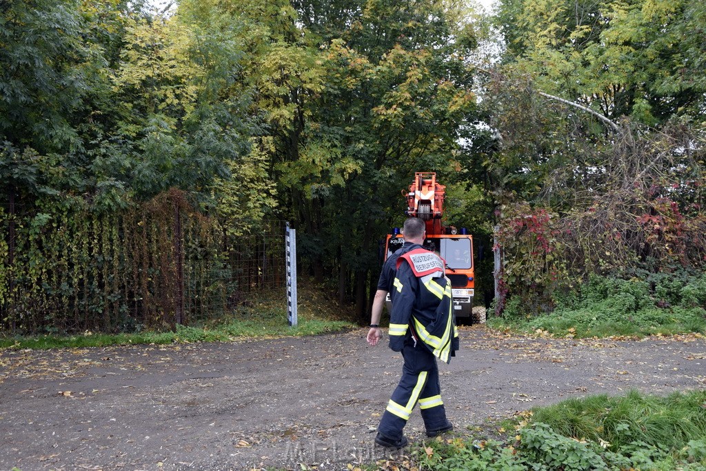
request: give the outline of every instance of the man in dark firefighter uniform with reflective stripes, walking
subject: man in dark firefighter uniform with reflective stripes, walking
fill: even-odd
[[[405,246],[397,257],[390,297],[390,348],[402,352],[402,377],[378,426],[375,443],[388,448],[407,446],[402,434],[414,405],[419,404],[426,435],[453,429],[441,400],[436,358],[450,362],[458,350],[451,285],[444,263],[424,249],[424,221],[405,221]]]

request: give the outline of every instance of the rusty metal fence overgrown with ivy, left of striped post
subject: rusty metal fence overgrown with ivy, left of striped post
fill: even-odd
[[[232,230],[180,191],[109,215],[75,203],[51,213],[10,209],[0,207],[6,332],[174,328],[285,284],[283,222]]]

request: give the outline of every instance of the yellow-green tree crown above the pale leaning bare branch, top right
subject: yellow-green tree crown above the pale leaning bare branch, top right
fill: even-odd
[[[695,39],[703,35],[695,23],[706,14],[701,4],[505,0],[500,5],[498,25],[508,39],[508,60],[537,73],[546,93],[561,91],[607,117],[629,116],[646,124],[674,114],[702,114],[706,82],[703,69],[692,68],[704,50]]]

